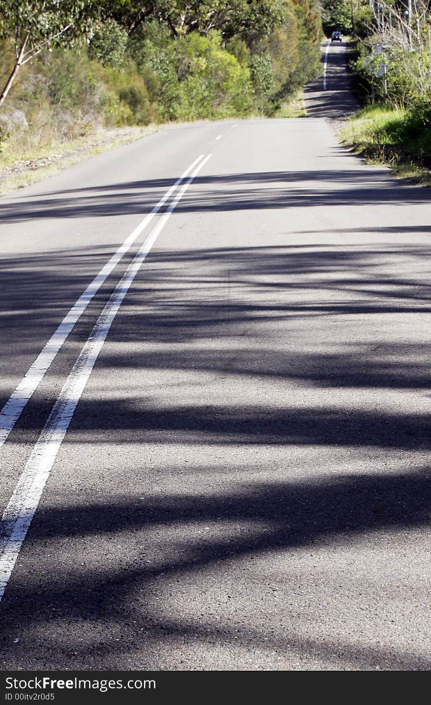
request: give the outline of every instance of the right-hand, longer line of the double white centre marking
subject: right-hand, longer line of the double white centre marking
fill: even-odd
[[[20,548],[23,545],[28,527],[30,527],[32,518],[39,505],[44,486],[49,478],[49,473],[54,465],[58,450],[68,430],[70,421],[73,418],[75,408],[87,384],[94,363],[104,345],[113,319],[118,313],[118,309],[132,281],[141,268],[146,255],[148,255],[151,247],[154,245],[158,234],[165,226],[170,214],[173,212],[178,202],[180,202],[196,174],[199,173],[210,157],[211,154],[207,154],[203,161],[196,166],[192,176],[189,176],[186,183],[173,199],[168,210],[163,214],[148,238],[146,238],[141,249],[135,256],[135,259],[133,259],[133,262],[127,267],[123,278],[121,278],[121,281],[115,287],[111,298],[108,300],[104,310],[97,319],[92,333],[90,333],[87,342],[73,366],[72,372],[70,372],[68,379],[65,381],[44,429],[39,439],[37,439],[37,443],[25,465],[23,474],[18,480],[13,495],[4,510],[3,517],[1,517],[0,548],[2,553],[0,557],[0,600],[4,595],[6,585],[11,577],[11,572],[20,553]]]

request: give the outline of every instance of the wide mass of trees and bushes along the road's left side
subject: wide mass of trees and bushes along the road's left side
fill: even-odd
[[[317,0],[0,0],[0,171],[115,129],[301,115],[321,37]]]

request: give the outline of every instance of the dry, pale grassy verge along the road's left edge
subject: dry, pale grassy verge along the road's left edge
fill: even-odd
[[[17,142],[5,140],[0,149],[0,195],[54,176],[78,161],[135,142],[156,130],[158,125],[98,128],[94,133],[75,140],[50,142],[33,148],[28,145],[20,147]]]

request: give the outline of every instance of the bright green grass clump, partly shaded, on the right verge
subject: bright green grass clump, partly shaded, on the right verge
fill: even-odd
[[[431,128],[407,110],[365,106],[347,119],[339,137],[370,164],[387,164],[397,176],[431,185]]]

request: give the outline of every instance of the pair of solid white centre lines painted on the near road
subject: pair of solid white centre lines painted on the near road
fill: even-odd
[[[77,300],[75,305],[70,309],[66,317],[54,335],[46,343],[44,349],[37,357],[37,360],[32,364],[27,374],[15,389],[9,400],[4,405],[0,413],[0,446],[6,441],[8,434],[13,429],[15,422],[18,420],[20,413],[27,404],[27,401],[34,393],[40,381],[42,381],[46,370],[51,365],[51,362],[56,357],[58,350],[63,345],[68,337],[73,326],[80,318],[80,315],[85,310],[89,302],[94,297],[94,294],[99,290],[102,283],[115,267],[120,259],[125,255],[125,252],[130,249],[132,243],[135,242],[139,233],[142,233],[146,225],[151,221],[154,215],[161,209],[163,204],[173,194],[175,188],[179,186],[187,178],[182,188],[177,192],[177,195],[171,202],[166,212],[161,216],[156,226],[153,228],[144,244],[135,256],[135,259],[127,267],[125,274],[121,278],[118,285],[113,290],[111,298],[106,303],[103,311],[96,321],[92,333],[81,350],[72,372],[65,381],[56,403],[49,415],[48,420],[42,430],[42,433],[32,450],[32,454],[25,465],[23,474],[18,480],[13,495],[4,510],[4,515],[1,518],[1,538],[0,538],[0,600],[3,597],[8,580],[11,577],[11,572],[15,561],[18,558],[20,548],[27,534],[28,527],[32,521],[39,500],[42,496],[42,491],[46,484],[46,480],[51,472],[51,467],[54,464],[56,455],[61,446],[66,431],[68,430],[70,421],[72,420],[75,408],[84,391],[87,380],[92,372],[94,363],[101,351],[102,345],[111,328],[113,319],[120,308],[120,305],[129,290],[132,281],[135,279],[146,255],[148,255],[151,247],[154,245],[158,234],[161,232],[165,223],[168,221],[170,214],[173,212],[177,204],[182,199],[182,196],[189,188],[189,185],[194,180],[195,176],[201,168],[206,164],[211,154],[201,154],[193,164],[186,169],[175,184],[165,193],[163,198],[158,202],[154,209],[149,213],[142,223],[135,228],[129,235],[127,240],[115,252],[109,262],[104,266],[99,274],[94,278],[92,283],[87,287],[84,293]]]

